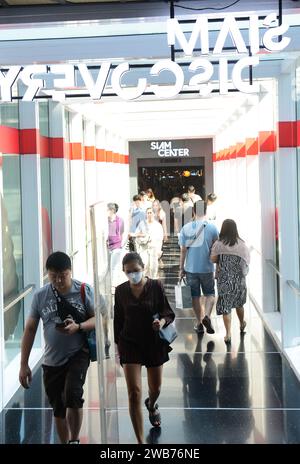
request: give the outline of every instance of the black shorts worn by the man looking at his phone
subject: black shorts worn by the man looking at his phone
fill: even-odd
[[[62,366],[42,366],[46,394],[55,417],[64,419],[67,408],[82,408],[89,364],[88,352],[80,350]]]

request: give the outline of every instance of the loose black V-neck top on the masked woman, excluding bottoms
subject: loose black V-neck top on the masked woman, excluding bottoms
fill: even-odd
[[[119,285],[115,293],[115,342],[118,344],[121,339],[139,346],[156,344],[158,333],[152,323],[157,313],[158,319],[166,320],[165,327],[175,319],[159,280],[148,278],[138,298],[133,295],[129,281]]]

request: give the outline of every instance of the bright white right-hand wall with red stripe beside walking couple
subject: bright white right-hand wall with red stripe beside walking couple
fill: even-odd
[[[240,236],[251,248],[249,295],[262,313],[277,309],[275,276],[267,264],[274,259],[275,249],[274,152],[270,144],[262,145],[266,152],[260,151],[260,134],[274,136],[275,132],[274,89],[274,81],[267,82],[259,95],[249,97],[230,115],[215,137],[218,225],[225,218],[234,219]]]

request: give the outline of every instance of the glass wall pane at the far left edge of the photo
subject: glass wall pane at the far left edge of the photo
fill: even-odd
[[[23,248],[21,216],[21,163],[18,150],[19,113],[17,103],[0,105],[0,124],[12,128],[5,133],[6,146],[14,153],[2,155],[2,253],[4,290],[4,337],[7,365],[19,352],[23,333],[23,304],[8,307],[23,288]],[[15,130],[14,130],[15,129]]]

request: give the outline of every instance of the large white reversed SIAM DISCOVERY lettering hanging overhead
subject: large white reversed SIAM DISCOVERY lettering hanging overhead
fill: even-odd
[[[106,92],[105,95],[115,94],[123,100],[138,99],[145,92],[150,92],[161,99],[174,98],[182,90],[196,91],[200,96],[205,97],[216,88],[220,94],[226,94],[232,86],[240,92],[256,93],[259,92],[259,83],[244,80],[243,71],[249,66],[259,65],[261,46],[267,52],[279,52],[289,45],[291,39],[284,36],[289,26],[278,25],[276,13],[270,13],[262,22],[258,15],[250,15],[245,18],[245,21],[248,29],[247,44],[237,19],[229,14],[223,19],[212,48],[207,16],[197,17],[189,39],[186,38],[179,21],[169,19],[167,22],[168,45],[178,44],[184,56],[189,58],[190,64],[186,73],[179,63],[169,59],[157,61],[148,71],[148,76],[137,78],[134,76],[136,70],[130,68],[127,62],[115,66],[110,61],[102,61],[96,66],[96,76],[94,75],[95,64],[91,72],[91,69],[84,63],[0,68],[0,101],[12,101],[13,86],[18,82],[24,88],[21,97],[23,101],[32,101],[41,96],[49,96],[57,101],[63,101],[68,96],[74,98],[76,93],[74,94],[72,90],[79,88],[76,84],[79,77],[92,100],[100,100],[104,92]],[[229,76],[229,60],[224,55],[222,56],[228,37],[231,38],[237,54],[237,61],[233,65],[231,76]],[[193,58],[195,49],[201,50],[201,55]],[[212,58],[218,65],[218,75],[214,77],[214,80],[212,79],[216,74],[216,69],[209,58]],[[159,78],[164,72],[169,75],[168,81],[154,84],[153,80]],[[131,73],[131,76],[127,77],[133,79],[136,85],[124,85],[123,79],[128,73]],[[110,85],[108,85],[109,77]],[[81,85],[80,89],[82,89]]]

